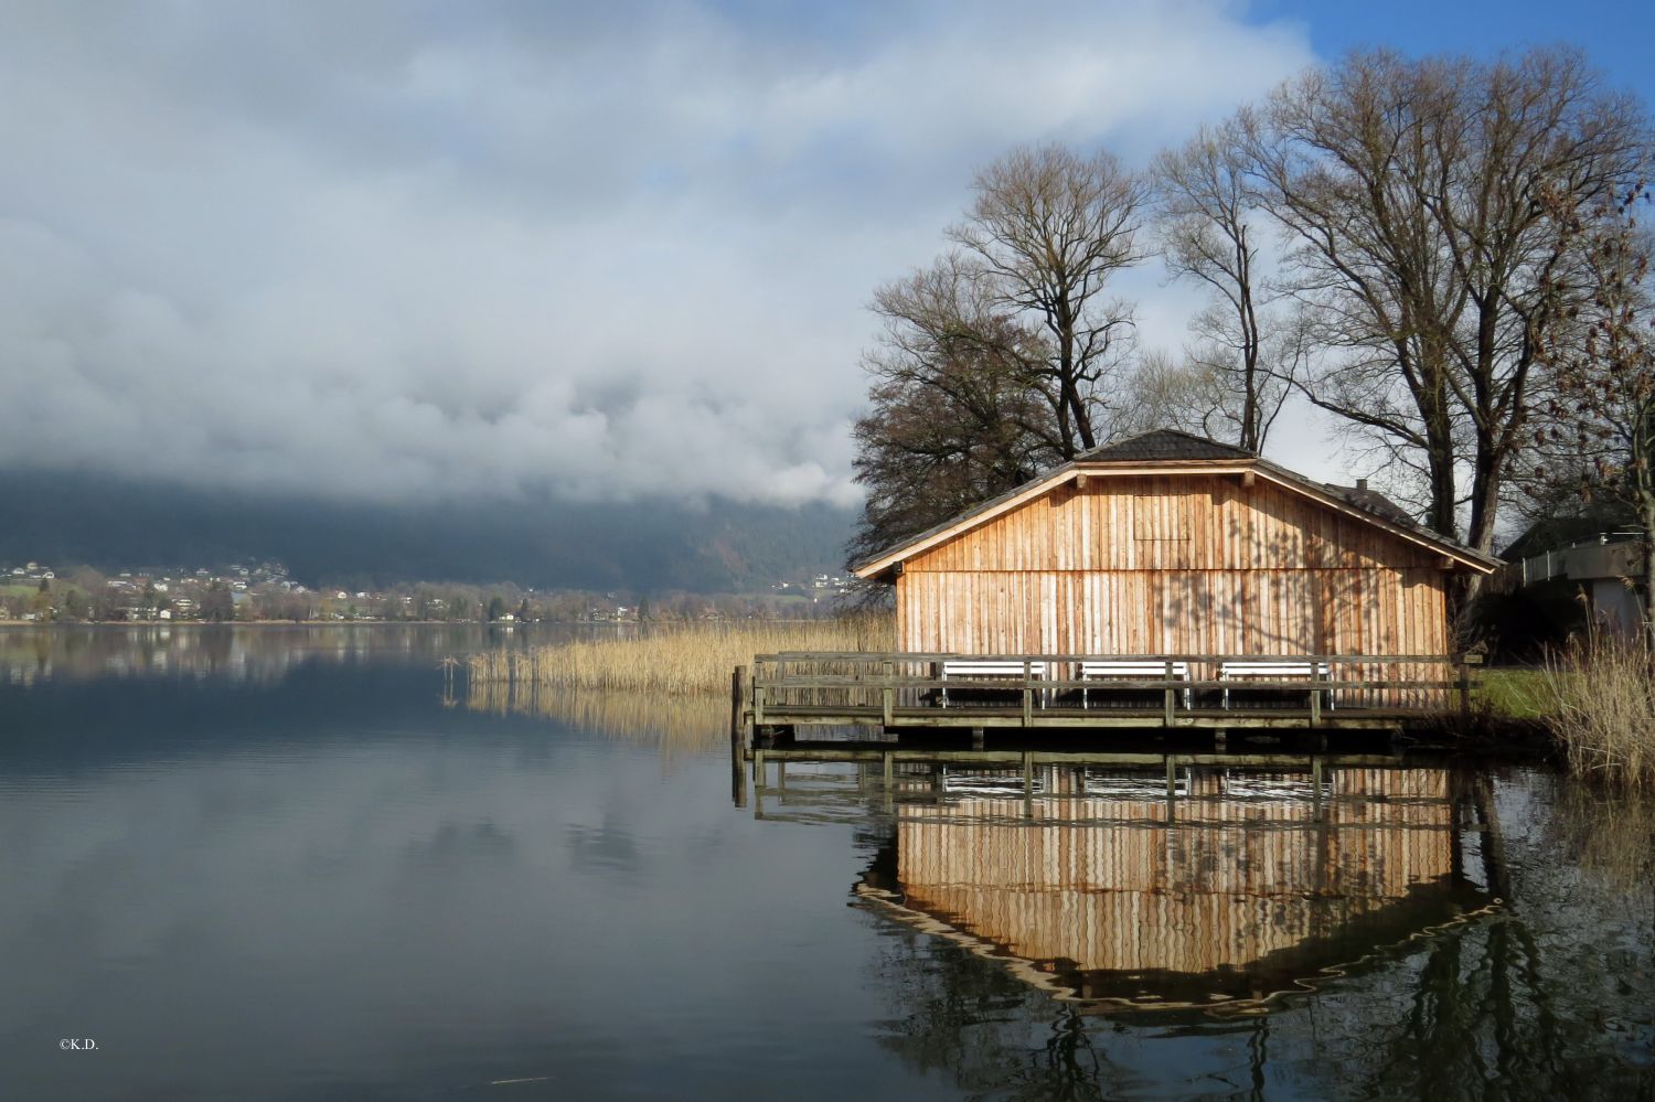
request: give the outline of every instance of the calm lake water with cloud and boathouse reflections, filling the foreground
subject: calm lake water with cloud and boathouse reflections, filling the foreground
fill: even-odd
[[[1655,1097],[1655,809],[775,766],[482,629],[0,632],[0,1099]],[[506,645],[521,645],[521,632]],[[66,1039],[93,1051],[65,1049]]]

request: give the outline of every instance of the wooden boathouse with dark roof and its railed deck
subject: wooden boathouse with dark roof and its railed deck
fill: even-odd
[[[854,568],[897,650],[758,655],[758,725],[1370,726],[1463,707],[1448,596],[1499,563],[1365,483],[1150,432]]]

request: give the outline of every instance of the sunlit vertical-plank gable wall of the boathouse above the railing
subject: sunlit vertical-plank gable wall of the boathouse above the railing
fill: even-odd
[[[1437,563],[1264,480],[1094,477],[910,559],[897,637],[960,654],[1446,654]]]

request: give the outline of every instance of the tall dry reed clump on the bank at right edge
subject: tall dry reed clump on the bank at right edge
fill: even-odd
[[[1655,786],[1655,655],[1589,639],[1546,665],[1546,723],[1569,768],[1620,789]]]

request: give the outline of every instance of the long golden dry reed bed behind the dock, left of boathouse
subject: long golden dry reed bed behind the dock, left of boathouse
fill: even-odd
[[[472,685],[596,688],[637,693],[713,693],[730,690],[730,673],[755,654],[778,650],[890,650],[889,616],[832,620],[755,620],[655,625],[632,639],[596,639],[485,650],[467,659]]]

